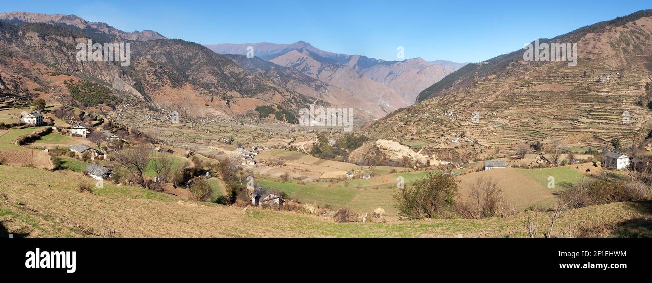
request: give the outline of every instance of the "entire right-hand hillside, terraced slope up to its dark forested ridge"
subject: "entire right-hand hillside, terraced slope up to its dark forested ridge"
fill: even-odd
[[[578,42],[576,66],[524,61],[523,50],[469,64],[365,134],[484,152],[537,141],[594,148],[614,139],[640,143],[651,128],[645,86],[652,72],[652,12],[624,19],[542,40]]]

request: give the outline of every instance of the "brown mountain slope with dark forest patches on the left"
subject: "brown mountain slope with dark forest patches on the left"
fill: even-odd
[[[77,60],[76,46],[87,40],[130,43],[131,64]],[[92,83],[108,88],[109,94],[74,97],[66,81]],[[29,12],[0,13],[0,94],[80,104],[93,96],[93,102],[105,105],[117,97],[132,105],[153,103],[198,117],[258,116],[257,105],[298,113],[315,101],[325,104],[194,42],[168,39],[155,31],[129,33],[74,15]]]

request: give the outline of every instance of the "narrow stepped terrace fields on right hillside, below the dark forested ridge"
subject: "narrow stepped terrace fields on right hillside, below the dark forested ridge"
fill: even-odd
[[[514,65],[513,71],[519,72],[522,67]],[[585,138],[574,146],[600,148],[614,139],[632,141],[642,133],[650,114],[635,104],[641,96],[640,76],[617,75],[623,71],[593,62],[578,68],[561,67],[561,72],[541,68],[541,75],[520,81],[512,77],[479,81],[472,90],[456,96],[424,101],[388,121],[379,121],[368,133],[376,137],[419,137],[426,144],[452,146],[449,137],[466,131],[467,137],[487,148],[514,148],[536,141],[557,144],[577,135]],[[590,75],[584,76],[585,70],[591,70]],[[606,75],[610,75],[607,81],[595,79]],[[550,85],[570,90],[554,91]],[[477,123],[473,122],[474,111],[479,113]],[[406,127],[395,127],[396,122]]]

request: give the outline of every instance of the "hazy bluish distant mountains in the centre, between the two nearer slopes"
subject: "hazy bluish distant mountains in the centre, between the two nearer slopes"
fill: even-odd
[[[368,110],[380,110],[384,114],[414,103],[421,90],[465,65],[451,61],[428,62],[421,58],[384,61],[324,51],[304,41],[205,46],[219,54],[238,55],[246,55],[247,47],[252,46],[254,56],[280,66],[297,68],[323,83],[347,90],[360,100],[378,105],[378,109]]]

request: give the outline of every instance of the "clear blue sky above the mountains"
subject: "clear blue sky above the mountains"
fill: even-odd
[[[291,43],[396,60],[479,62],[597,21],[652,8],[646,1],[29,1],[0,11],[76,14],[125,31],[153,29],[200,44]]]

